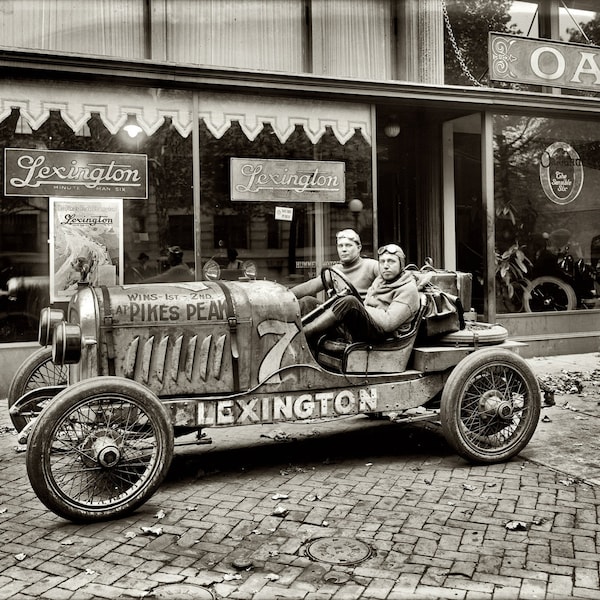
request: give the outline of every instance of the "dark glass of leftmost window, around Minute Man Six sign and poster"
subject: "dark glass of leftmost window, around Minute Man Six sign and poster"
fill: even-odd
[[[15,95],[18,94],[19,88],[15,85]],[[152,97],[160,98],[160,90],[155,90]],[[184,106],[183,99],[181,105]],[[147,114],[156,112],[151,106],[147,106],[147,110]],[[110,116],[118,121],[118,109],[115,112]],[[124,120],[126,115],[122,116]],[[117,280],[121,269],[125,283],[165,271],[166,249],[172,245],[183,249],[183,259],[189,267],[188,278],[193,279],[191,135],[183,137],[169,117],[152,135],[140,128],[135,137],[128,135],[123,127],[111,132],[105,119],[106,115],[92,113],[85,125],[74,132],[60,111],[50,111],[48,119],[38,129],[32,129],[19,109],[14,109],[0,123],[0,150],[29,148],[147,155],[148,199],[122,200],[124,262],[115,265]],[[3,151],[0,168],[4,173]],[[0,343],[37,339],[39,312],[50,303],[49,237],[47,197],[14,197],[2,193]],[[77,249],[65,249],[65,257],[65,264],[67,261],[73,264],[79,257]],[[64,302],[55,303],[55,308],[65,306]]]

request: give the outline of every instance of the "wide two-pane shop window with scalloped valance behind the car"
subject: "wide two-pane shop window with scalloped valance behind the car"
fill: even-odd
[[[250,263],[250,275],[286,285],[337,261],[340,229],[355,228],[373,253],[368,105],[197,93],[196,190],[191,92],[4,85],[17,99],[0,89],[0,343],[34,341],[41,308],[65,308],[83,271],[95,284],[144,282],[162,276],[171,246],[190,281],[206,278],[213,259]],[[39,181],[24,183],[24,164],[38,160]],[[236,160],[274,169],[278,189],[236,197]],[[104,175],[87,185],[106,169],[139,169],[143,189]],[[283,189],[292,173],[296,185]]]

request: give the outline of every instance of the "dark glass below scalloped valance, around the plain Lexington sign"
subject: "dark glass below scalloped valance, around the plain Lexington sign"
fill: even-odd
[[[237,260],[251,261],[256,276],[294,284],[317,274],[323,263],[336,262],[335,232],[356,227],[363,251],[372,255],[371,147],[359,130],[341,144],[327,128],[313,144],[302,126],[282,143],[269,123],[249,140],[239,123],[217,139],[200,124],[202,257],[221,269],[230,262],[228,249]],[[231,200],[230,159],[263,158],[345,163],[346,198],[358,198],[362,210],[353,213],[348,202],[244,202]],[[291,209],[290,220],[278,218],[276,209]],[[237,274],[232,274],[237,275]]]

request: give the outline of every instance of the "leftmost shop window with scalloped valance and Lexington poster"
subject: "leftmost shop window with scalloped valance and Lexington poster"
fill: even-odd
[[[100,267],[107,265],[104,276],[107,273],[112,276],[107,283],[133,283],[164,270],[166,248],[179,245],[184,251],[184,261],[190,267],[190,279],[193,279],[191,95],[165,90],[154,90],[150,94],[148,90],[134,88],[111,90],[107,86],[86,93],[76,85],[65,90],[64,86],[54,82],[38,84],[35,88],[28,82],[13,83],[12,89],[13,98],[24,99],[12,101],[20,107],[8,107],[7,110],[4,106],[5,110],[0,111],[6,115],[0,122],[0,172],[3,178],[0,196],[0,343],[37,339],[41,308],[49,304],[55,308],[66,307],[71,290],[81,278],[75,271],[82,258],[87,259],[91,271],[98,267],[99,272]],[[93,104],[91,98],[96,100],[94,106],[98,111],[89,109]],[[125,125],[131,119],[126,109],[120,108],[124,104],[123,98],[134,107],[129,110],[137,113],[133,121],[137,119],[136,122],[143,125],[134,135],[125,131]],[[160,99],[162,106],[154,106],[150,98]],[[0,100],[0,104],[2,102],[11,101]],[[176,102],[176,107],[170,108],[170,102]],[[63,108],[48,110],[48,105]],[[86,110],[90,112],[86,114]],[[164,116],[164,113],[173,116]],[[6,149],[31,155],[37,153],[35,156],[43,158],[45,165],[62,160],[63,167],[80,164],[81,156],[91,160],[89,164],[92,165],[114,161],[115,168],[124,162],[120,160],[121,156],[139,157],[137,160],[147,165],[144,173],[144,177],[147,174],[147,192],[145,197],[127,197],[124,193],[119,198],[118,192],[94,189],[88,193],[81,187],[81,197],[74,197],[67,185],[54,181],[57,185],[51,192],[44,183],[15,194],[14,190],[7,191],[5,187],[10,179]],[[57,159],[58,155],[66,158]],[[52,182],[50,177],[46,180]],[[42,187],[43,192],[40,191]],[[111,218],[122,215],[115,220],[114,231],[103,238],[100,236],[99,244],[98,238],[94,238],[97,232],[90,233],[88,239],[85,234],[75,239],[73,236],[61,237],[56,231],[54,219],[59,214],[56,207],[85,207],[86,202],[88,207],[93,207],[93,215]]]

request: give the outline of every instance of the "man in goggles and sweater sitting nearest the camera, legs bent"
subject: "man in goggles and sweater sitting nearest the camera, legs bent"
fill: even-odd
[[[382,342],[408,329],[420,299],[414,276],[404,270],[404,251],[396,244],[387,244],[379,248],[377,255],[381,274],[367,290],[364,304],[356,296],[338,298],[304,325],[308,339],[338,327],[349,341]]]

